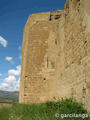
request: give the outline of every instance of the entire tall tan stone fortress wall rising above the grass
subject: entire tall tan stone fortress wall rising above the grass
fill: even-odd
[[[32,14],[24,28],[19,102],[65,98],[90,110],[90,0]]]

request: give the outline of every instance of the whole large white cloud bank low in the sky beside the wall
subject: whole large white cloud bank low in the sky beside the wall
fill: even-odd
[[[6,91],[19,91],[21,65],[15,69],[8,70],[8,77],[0,83],[0,89]]]

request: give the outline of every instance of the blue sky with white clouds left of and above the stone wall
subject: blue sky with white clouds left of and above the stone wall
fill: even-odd
[[[66,0],[0,1],[0,89],[19,90],[23,29],[32,13],[64,8]]]

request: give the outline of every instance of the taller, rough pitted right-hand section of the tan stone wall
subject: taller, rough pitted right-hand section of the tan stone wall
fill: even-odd
[[[90,29],[88,29],[90,6],[87,5],[89,3],[82,0],[69,1],[66,4],[65,18],[63,17],[65,22],[60,23],[59,28],[63,46],[60,58],[57,59],[57,93],[62,98],[71,97],[83,102],[88,110],[90,110]]]

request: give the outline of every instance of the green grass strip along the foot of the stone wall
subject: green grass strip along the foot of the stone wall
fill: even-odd
[[[59,117],[55,117],[58,113]],[[64,118],[61,114],[87,114],[82,104],[71,99],[42,104],[14,104],[10,108],[0,108],[0,120],[83,120],[82,118]],[[57,114],[56,114],[57,115]],[[84,120],[90,120],[85,118]]]

